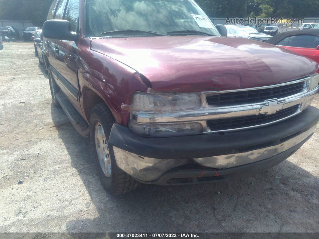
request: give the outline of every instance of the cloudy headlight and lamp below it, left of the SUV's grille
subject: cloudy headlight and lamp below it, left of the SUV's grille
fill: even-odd
[[[201,93],[198,92],[136,92],[132,95],[131,105],[123,106],[130,110],[130,129],[144,137],[172,137],[200,134],[203,131],[201,123],[137,123],[137,115],[145,112],[148,115],[158,115],[170,112],[194,110],[201,107]]]

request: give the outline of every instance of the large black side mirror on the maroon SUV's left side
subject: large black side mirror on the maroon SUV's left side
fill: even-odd
[[[78,41],[78,35],[71,31],[67,20],[48,20],[43,23],[42,34],[45,38],[66,41]]]

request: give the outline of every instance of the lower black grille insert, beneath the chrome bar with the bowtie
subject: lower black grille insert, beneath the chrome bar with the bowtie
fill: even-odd
[[[272,115],[263,114],[263,115],[209,120],[207,121],[207,125],[211,129],[211,131],[223,131],[223,130],[245,128],[245,127],[257,126],[257,125],[281,120],[283,118],[292,116],[298,110],[299,110],[299,105],[295,105],[286,109],[279,110],[277,111],[277,113]]]

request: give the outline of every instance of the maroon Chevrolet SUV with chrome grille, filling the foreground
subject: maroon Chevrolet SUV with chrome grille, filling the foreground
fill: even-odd
[[[53,104],[90,137],[105,188],[247,176],[313,135],[318,64],[226,35],[193,0],[53,2]]]

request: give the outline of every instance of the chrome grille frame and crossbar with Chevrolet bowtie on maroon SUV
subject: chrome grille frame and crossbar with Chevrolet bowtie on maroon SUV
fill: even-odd
[[[311,77],[302,78],[295,81],[290,81],[278,85],[271,85],[271,86],[263,86],[263,87],[255,87],[249,89],[238,89],[234,91],[249,91],[249,90],[256,90],[256,89],[265,89],[265,88],[274,88],[289,84],[295,84],[298,82],[304,82],[303,91],[297,94],[293,94],[284,98],[274,98],[274,99],[267,99],[262,102],[252,103],[252,104],[243,104],[243,105],[231,105],[231,106],[221,106],[215,107],[209,105],[207,103],[207,95],[212,94],[220,94],[220,93],[229,93],[233,91],[214,91],[214,92],[202,92],[202,104],[200,108],[195,110],[187,110],[187,111],[180,111],[180,112],[164,112],[164,113],[155,113],[154,112],[131,112],[131,120],[134,119],[134,122],[147,125],[147,124],[167,124],[167,123],[182,123],[182,122],[199,122],[203,125],[203,134],[207,133],[217,133],[217,132],[227,132],[227,131],[239,131],[239,130],[246,130],[251,128],[263,127],[266,125],[270,125],[273,123],[277,123],[293,116],[298,115],[301,113],[306,107],[308,107],[315,94],[319,92],[319,86],[312,90],[308,90],[309,86],[309,79]],[[242,127],[242,128],[232,128],[232,129],[224,129],[218,131],[212,131],[209,127],[207,121],[215,120],[215,119],[225,119],[225,118],[235,118],[235,117],[242,117],[242,116],[254,116],[254,115],[261,115],[261,109],[263,107],[269,108],[269,101],[277,101],[277,104],[283,104],[282,108],[278,108],[277,111],[273,108],[270,108],[270,112],[278,112],[279,110],[283,110],[286,108],[290,108],[296,105],[299,105],[298,110],[290,116],[284,117],[282,119],[264,123],[259,125],[253,125],[249,127]],[[264,109],[264,108],[263,108]],[[263,110],[264,111],[264,110]],[[263,112],[262,111],[262,112]],[[273,114],[273,113],[272,113]]]

